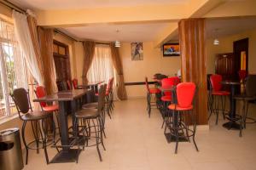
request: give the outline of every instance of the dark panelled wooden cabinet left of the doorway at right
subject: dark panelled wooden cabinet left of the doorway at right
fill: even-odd
[[[215,73],[222,75],[224,80],[235,80],[235,58],[233,53],[217,54],[215,59]]]

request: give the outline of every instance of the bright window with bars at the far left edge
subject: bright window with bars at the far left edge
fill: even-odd
[[[25,62],[15,40],[14,25],[0,18],[0,118],[17,112],[9,94],[21,87],[27,87]]]

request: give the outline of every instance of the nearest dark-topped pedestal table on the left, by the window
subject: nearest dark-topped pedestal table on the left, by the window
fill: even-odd
[[[33,99],[34,102],[53,102],[58,101],[59,103],[59,118],[61,127],[61,145],[63,145],[62,150],[57,153],[57,155],[50,161],[50,163],[60,163],[60,162],[73,162],[76,161],[80,150],[71,149],[69,146],[70,139],[68,135],[68,124],[67,124],[67,105],[71,103],[72,114],[76,111],[76,100],[87,94],[89,90],[87,89],[74,89],[65,90],[57,94],[47,95],[43,98]],[[66,145],[66,146],[65,146]]]

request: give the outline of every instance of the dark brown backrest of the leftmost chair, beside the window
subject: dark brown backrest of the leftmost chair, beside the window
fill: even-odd
[[[28,91],[25,88],[15,88],[13,94],[11,94],[12,99],[15,102],[17,111],[26,114],[31,108],[30,99]]]

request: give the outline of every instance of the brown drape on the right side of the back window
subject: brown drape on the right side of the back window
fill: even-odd
[[[119,56],[119,49],[114,47],[113,43],[110,44],[112,60],[113,60],[113,67],[117,71],[117,95],[119,99],[127,99],[127,94],[125,90],[125,80],[124,80],[124,72],[123,72],[123,65]]]

